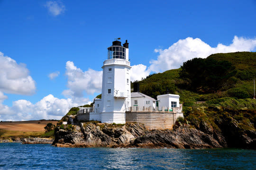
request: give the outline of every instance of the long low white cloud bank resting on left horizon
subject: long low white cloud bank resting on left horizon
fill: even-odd
[[[61,119],[70,107],[77,107],[86,103],[90,103],[89,99],[83,98],[81,101],[73,101],[71,98],[59,99],[52,94],[45,96],[36,104],[27,100],[14,101],[11,107],[0,103],[0,120]]]

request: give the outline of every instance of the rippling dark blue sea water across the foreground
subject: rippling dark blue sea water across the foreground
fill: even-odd
[[[0,143],[0,169],[256,170],[256,151],[57,148],[50,144]]]

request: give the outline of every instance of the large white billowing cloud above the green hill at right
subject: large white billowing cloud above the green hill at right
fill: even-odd
[[[149,70],[163,72],[179,68],[183,62],[193,58],[206,58],[214,53],[236,51],[253,51],[256,49],[256,39],[247,39],[235,36],[230,45],[219,43],[217,47],[210,47],[199,38],[188,37],[171,45],[168,49],[155,49],[159,55],[156,60],[150,61]]]

